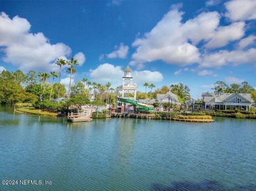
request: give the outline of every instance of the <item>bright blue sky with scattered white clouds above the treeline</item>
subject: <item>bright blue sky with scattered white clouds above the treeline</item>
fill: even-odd
[[[0,0],[0,12],[0,70],[58,71],[74,56],[73,82],[116,88],[129,65],[141,91],[182,82],[197,99],[217,80],[256,87],[255,0]]]

